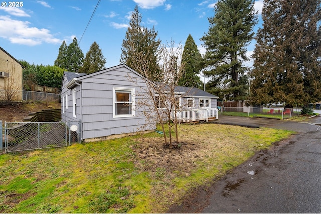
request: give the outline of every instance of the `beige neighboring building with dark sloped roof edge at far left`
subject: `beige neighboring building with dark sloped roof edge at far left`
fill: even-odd
[[[24,66],[0,47],[0,101],[22,100]]]

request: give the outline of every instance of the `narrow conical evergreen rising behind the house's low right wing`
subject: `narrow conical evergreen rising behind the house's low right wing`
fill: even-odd
[[[184,74],[179,81],[180,86],[187,87],[200,87],[202,81],[197,76],[201,71],[202,56],[197,49],[197,45],[194,42],[191,34],[186,39],[183,54],[182,63],[184,63]]]

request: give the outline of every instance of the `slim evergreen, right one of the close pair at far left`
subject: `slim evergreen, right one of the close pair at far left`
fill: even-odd
[[[84,63],[84,54],[78,45],[77,38],[74,37],[67,49],[68,65],[66,69],[71,72],[78,72]]]

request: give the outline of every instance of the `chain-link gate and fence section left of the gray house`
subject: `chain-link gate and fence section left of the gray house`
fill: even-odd
[[[0,142],[4,141],[5,152],[68,146],[80,141],[79,121],[73,123],[71,131],[70,122],[5,122],[5,134]]]

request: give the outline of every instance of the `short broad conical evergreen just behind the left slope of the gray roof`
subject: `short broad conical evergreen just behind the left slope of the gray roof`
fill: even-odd
[[[94,41],[86,54],[84,65],[80,68],[81,73],[93,73],[105,68],[106,58],[104,58],[99,45]]]

